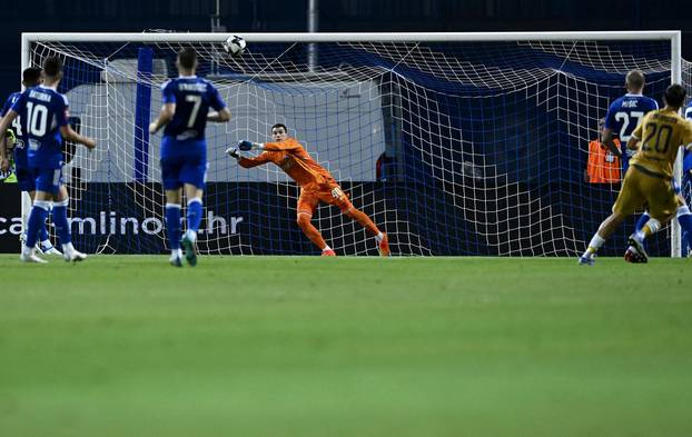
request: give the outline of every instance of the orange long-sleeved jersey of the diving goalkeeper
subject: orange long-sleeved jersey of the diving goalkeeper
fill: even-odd
[[[336,185],[332,175],[315,162],[295,138],[280,142],[265,142],[265,151],[255,158],[240,158],[240,167],[251,168],[274,162],[300,187]]]

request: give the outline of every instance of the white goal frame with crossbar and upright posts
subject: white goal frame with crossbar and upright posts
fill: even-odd
[[[233,33],[201,32],[22,32],[21,68],[30,67],[31,43],[38,41],[79,41],[79,42],[221,42]],[[253,42],[487,42],[487,41],[570,41],[570,40],[668,40],[671,43],[671,82],[682,83],[682,39],[679,30],[655,31],[575,31],[575,32],[354,32],[354,33],[243,33],[249,43]],[[678,152],[674,166],[674,178],[680,183],[682,177],[682,152]],[[22,217],[31,208],[28,195],[22,193]],[[682,252],[681,230],[676,220],[671,221],[671,257],[680,257]]]

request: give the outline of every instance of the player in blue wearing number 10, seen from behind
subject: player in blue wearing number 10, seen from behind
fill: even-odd
[[[2,142],[7,127],[17,117],[21,117],[28,163],[36,175],[36,200],[29,215],[27,241],[20,255],[20,260],[24,262],[46,262],[36,255],[36,241],[41,226],[46,224],[51,201],[53,224],[60,237],[65,260],[81,261],[87,257],[72,246],[67,219],[69,197],[62,181],[62,142],[65,138],[93,149],[96,141],[75,132],[68,125],[68,100],[58,92],[60,79],[62,61],[56,57],[47,58],[43,62],[43,85],[22,92],[0,121]]]

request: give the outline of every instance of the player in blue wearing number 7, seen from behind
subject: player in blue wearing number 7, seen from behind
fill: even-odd
[[[208,80],[195,76],[197,54],[182,49],[176,60],[179,76],[161,86],[164,106],[149,125],[156,133],[164,126],[161,179],[166,190],[166,228],[170,242],[170,264],[182,266],[180,245],[190,266],[197,264],[197,230],[201,221],[201,197],[207,177],[207,121],[226,122],[230,111]],[[209,108],[215,111],[209,112]],[[180,239],[182,188],[187,198],[187,231]]]

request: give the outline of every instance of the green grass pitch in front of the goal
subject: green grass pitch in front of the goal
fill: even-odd
[[[0,436],[691,436],[692,266],[0,256]]]

